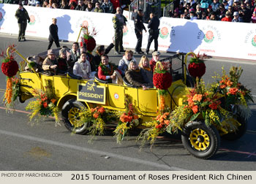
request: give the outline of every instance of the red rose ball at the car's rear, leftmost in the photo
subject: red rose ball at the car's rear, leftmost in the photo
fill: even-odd
[[[7,77],[13,77],[17,74],[19,66],[17,61],[15,61],[12,56],[10,58],[4,59],[4,62],[1,64],[1,72],[3,72]]]

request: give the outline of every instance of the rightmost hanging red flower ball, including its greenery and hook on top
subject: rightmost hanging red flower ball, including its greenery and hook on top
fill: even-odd
[[[192,58],[190,58],[189,61],[189,74],[194,78],[196,77],[202,77],[203,74],[206,73],[206,64],[204,63],[203,59],[207,58],[208,56],[203,54],[200,55],[199,53],[197,55],[195,55],[195,53],[187,53],[187,55],[185,56],[185,63],[187,64],[187,56],[188,55],[193,55]]]

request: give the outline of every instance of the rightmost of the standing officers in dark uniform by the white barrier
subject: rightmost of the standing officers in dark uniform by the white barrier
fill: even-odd
[[[150,20],[148,22],[148,28],[149,28],[149,37],[148,37],[148,45],[146,48],[146,54],[148,54],[149,52],[149,48],[151,45],[151,42],[154,39],[154,51],[158,50],[158,36],[159,36],[159,25],[160,25],[160,21],[159,18],[157,18],[156,15],[154,15],[154,13],[151,13],[150,15]]]

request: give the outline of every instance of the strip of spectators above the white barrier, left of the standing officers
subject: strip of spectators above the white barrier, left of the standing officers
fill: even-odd
[[[19,4],[57,9],[75,9],[86,12],[115,13],[116,7],[128,7],[132,0],[4,0],[5,4]]]

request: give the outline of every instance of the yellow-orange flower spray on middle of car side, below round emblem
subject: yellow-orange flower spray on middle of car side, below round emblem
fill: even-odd
[[[116,130],[114,131],[116,142],[121,143],[124,137],[127,137],[129,134],[129,129],[133,129],[139,126],[140,121],[138,115],[135,113],[135,107],[132,104],[131,96],[124,96],[124,105],[125,112],[123,112],[119,118],[118,126],[116,126]]]

